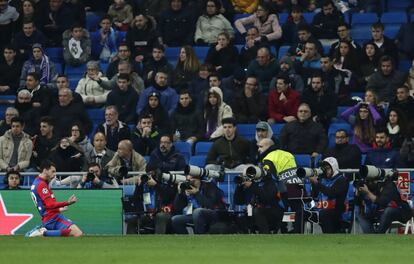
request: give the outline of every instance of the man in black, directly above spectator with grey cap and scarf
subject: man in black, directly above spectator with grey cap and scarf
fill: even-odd
[[[27,60],[31,55],[33,44],[36,43],[44,47],[47,39],[42,32],[36,29],[33,20],[24,20],[22,31],[16,33],[13,38],[13,45],[16,46],[21,58]]]

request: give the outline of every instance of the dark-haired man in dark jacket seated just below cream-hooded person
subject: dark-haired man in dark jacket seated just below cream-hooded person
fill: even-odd
[[[223,119],[223,131],[207,153],[206,169],[219,171],[224,166],[243,171],[251,162],[249,141],[236,133],[236,121],[232,117]]]

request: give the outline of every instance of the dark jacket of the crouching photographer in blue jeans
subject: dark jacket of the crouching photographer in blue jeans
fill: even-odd
[[[201,182],[200,191],[193,196],[201,208],[224,210],[224,193],[214,182]],[[178,193],[174,200],[174,212],[182,214],[188,205],[188,197],[184,192]]]

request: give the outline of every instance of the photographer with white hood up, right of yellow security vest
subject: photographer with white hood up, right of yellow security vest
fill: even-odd
[[[342,214],[345,211],[345,198],[348,182],[339,172],[338,161],[328,157],[322,161],[322,175],[312,175],[312,197],[317,200],[316,212],[306,212],[306,218],[318,221],[323,233],[341,232]]]

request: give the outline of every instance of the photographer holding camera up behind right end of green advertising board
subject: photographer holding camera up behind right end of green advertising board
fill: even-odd
[[[105,188],[119,188],[118,183],[114,178],[108,178],[103,175],[101,166],[98,163],[92,162],[88,165],[88,173],[82,176],[78,184],[78,189],[105,189]]]

